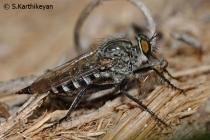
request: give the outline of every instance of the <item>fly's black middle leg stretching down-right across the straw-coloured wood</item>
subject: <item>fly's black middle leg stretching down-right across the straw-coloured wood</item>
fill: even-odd
[[[127,96],[129,99],[131,99],[132,101],[136,102],[138,105],[140,105],[144,110],[146,110],[148,113],[150,113],[155,119],[158,120],[158,122],[160,122],[161,124],[163,124],[165,127],[167,127],[168,125],[162,121],[160,118],[158,118],[158,116],[152,112],[152,110],[150,110],[146,105],[144,105],[141,101],[139,101],[137,98],[131,96],[130,94],[128,94],[127,91],[125,91],[125,88],[127,86],[127,84],[131,81],[131,77],[129,78],[125,78],[121,84],[120,84],[120,92],[122,92],[123,94],[125,94],[125,96]]]

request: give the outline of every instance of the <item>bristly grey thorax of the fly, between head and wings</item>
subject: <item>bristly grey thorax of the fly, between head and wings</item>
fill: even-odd
[[[104,75],[119,75],[131,74],[134,70],[147,62],[147,57],[143,54],[140,47],[133,46],[132,42],[126,39],[114,39],[105,42],[98,50],[97,55],[100,59],[110,58],[117,60],[114,66],[109,71],[104,72]]]

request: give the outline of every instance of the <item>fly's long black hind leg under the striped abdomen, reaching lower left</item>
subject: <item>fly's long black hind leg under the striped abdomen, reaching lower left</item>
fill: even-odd
[[[64,120],[67,120],[71,113],[74,111],[74,109],[77,107],[77,105],[79,104],[82,96],[84,95],[85,91],[89,90],[89,89],[100,89],[100,90],[105,90],[105,89],[109,89],[114,87],[115,84],[105,84],[105,85],[95,85],[95,84],[91,84],[91,85],[87,85],[85,88],[83,88],[79,94],[76,96],[76,98],[74,99],[74,101],[72,102],[68,113],[66,114],[65,117],[61,118],[60,120],[58,120],[57,122],[55,122],[53,125],[46,127],[43,129],[43,131],[45,131],[46,129],[51,129],[53,127],[56,127],[58,124],[60,124],[61,122],[63,122]]]

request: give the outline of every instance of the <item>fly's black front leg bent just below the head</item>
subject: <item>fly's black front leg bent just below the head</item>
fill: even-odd
[[[148,72],[150,70],[153,70],[163,81],[165,81],[169,86],[171,86],[172,88],[176,89],[176,90],[179,90],[181,93],[184,93],[185,90],[184,89],[181,89],[181,88],[178,88],[176,87],[175,85],[171,84],[171,82],[166,79],[166,77],[160,73],[157,69],[155,69],[154,67],[152,66],[149,66],[149,67],[144,67],[144,68],[140,68],[140,69],[137,69],[134,71],[134,74],[136,73],[145,73],[145,72]]]

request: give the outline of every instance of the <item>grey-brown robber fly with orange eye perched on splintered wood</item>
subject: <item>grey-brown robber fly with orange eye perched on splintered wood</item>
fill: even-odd
[[[66,116],[48,127],[52,128],[70,117],[83,94],[91,93],[91,90],[115,87],[148,111],[160,123],[167,126],[146,105],[126,91],[130,82],[137,80],[142,73],[152,70],[172,88],[183,92],[164,77],[163,73],[166,72],[167,67],[166,60],[149,59],[150,56],[153,56],[154,51],[151,40],[152,38],[149,39],[143,34],[136,36],[137,45],[122,38],[109,40],[100,45],[98,49],[47,72],[30,86],[18,91],[17,94],[49,92],[56,95],[66,93],[69,96],[75,96]]]

